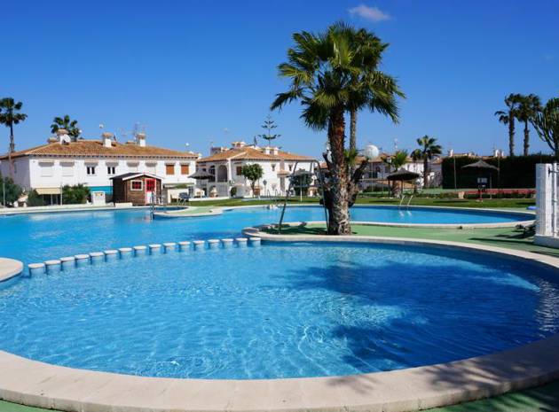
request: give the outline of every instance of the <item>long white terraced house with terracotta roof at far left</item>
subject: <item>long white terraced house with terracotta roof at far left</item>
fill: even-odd
[[[112,194],[111,178],[132,172],[161,177],[164,188],[194,187],[190,175],[196,171],[198,154],[178,152],[146,144],[146,135],[126,143],[114,141],[111,133],[101,139],[72,142],[66,130],[59,130],[47,144],[12,154],[13,180],[25,190],[36,190],[47,203],[59,203],[62,186],[82,183],[91,191]],[[8,156],[0,156],[0,172],[10,176]]]

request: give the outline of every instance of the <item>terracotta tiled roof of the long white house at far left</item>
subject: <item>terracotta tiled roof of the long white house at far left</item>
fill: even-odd
[[[105,147],[97,140],[78,140],[69,144],[59,144],[58,142],[43,144],[31,149],[14,152],[12,158],[22,156],[62,156],[62,157],[165,157],[165,158],[186,158],[196,159],[197,156],[192,152],[178,152],[156,146],[141,147],[137,144],[121,144],[113,142],[113,147]],[[0,159],[8,159],[8,155],[0,156]]]

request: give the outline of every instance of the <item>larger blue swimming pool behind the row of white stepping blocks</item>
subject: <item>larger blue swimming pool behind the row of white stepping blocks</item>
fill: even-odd
[[[234,237],[249,226],[279,221],[277,210],[264,207],[226,210],[224,214],[152,220],[149,211],[120,210],[0,216],[0,256],[25,263],[58,259],[76,253],[180,240]],[[499,223],[533,219],[533,214],[464,209],[355,206],[354,221],[415,223]],[[284,222],[324,221],[319,206],[288,207]]]

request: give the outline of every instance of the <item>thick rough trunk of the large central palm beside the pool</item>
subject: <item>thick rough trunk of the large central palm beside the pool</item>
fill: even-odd
[[[348,168],[344,154],[345,120],[343,108],[335,107],[328,120],[328,142],[332,161],[330,164],[331,201],[329,202],[329,235],[350,235],[350,205]]]

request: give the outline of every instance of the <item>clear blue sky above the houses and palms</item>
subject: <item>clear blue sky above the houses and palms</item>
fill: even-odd
[[[54,116],[83,135],[146,125],[148,144],[207,153],[209,142],[252,141],[275,93],[276,67],[295,31],[344,19],[390,43],[382,69],[407,99],[400,124],[361,113],[358,142],[413,149],[435,136],[445,150],[507,149],[493,113],[510,92],[559,96],[559,2],[95,1],[3,7],[0,96],[24,102],[16,148],[42,144]],[[9,35],[6,35],[9,34]],[[299,105],[273,113],[291,152],[319,156],[325,133],[304,127]],[[547,151],[532,132],[531,149]],[[0,129],[7,150],[7,129]],[[522,130],[517,128],[517,152]]]

